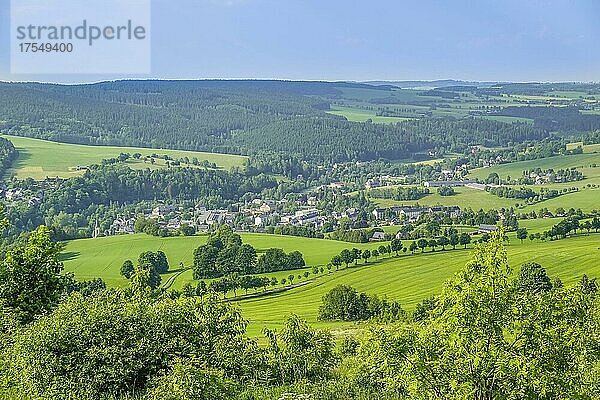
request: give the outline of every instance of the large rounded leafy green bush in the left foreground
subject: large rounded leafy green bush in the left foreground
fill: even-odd
[[[17,337],[8,373],[22,393],[51,398],[132,394],[152,377],[168,376],[177,359],[206,368],[207,379],[211,369],[249,379],[257,373],[257,348],[244,339],[245,327],[237,311],[214,298],[74,294]]]

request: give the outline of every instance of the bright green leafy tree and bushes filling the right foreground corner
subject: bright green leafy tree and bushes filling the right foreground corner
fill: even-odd
[[[492,233],[420,323],[372,330],[356,382],[416,399],[598,396],[595,297],[516,290],[504,239]]]

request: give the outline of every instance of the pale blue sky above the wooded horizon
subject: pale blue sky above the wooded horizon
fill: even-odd
[[[10,75],[0,0],[0,79]],[[152,73],[130,77],[600,81],[597,0],[152,0]]]

